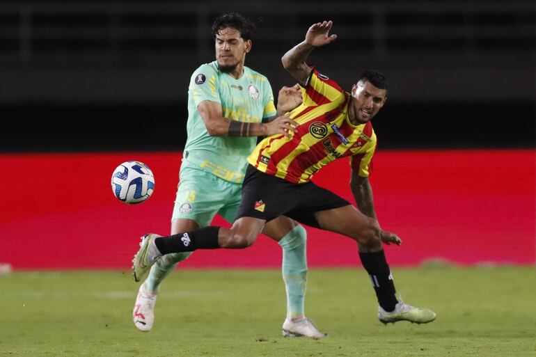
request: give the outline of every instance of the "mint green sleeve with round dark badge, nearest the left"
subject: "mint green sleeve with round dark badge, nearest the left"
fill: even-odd
[[[218,86],[219,77],[216,70],[212,66],[204,64],[191,75],[188,89],[196,106],[198,106],[200,102],[205,100],[221,103]]]

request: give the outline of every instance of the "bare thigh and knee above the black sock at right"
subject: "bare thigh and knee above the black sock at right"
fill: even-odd
[[[326,209],[315,213],[315,218],[323,230],[329,230],[350,237],[367,251],[381,251],[379,225],[352,205]]]

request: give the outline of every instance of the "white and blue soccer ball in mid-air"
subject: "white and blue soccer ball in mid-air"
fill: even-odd
[[[140,161],[126,161],[111,175],[111,190],[124,203],[142,203],[152,195],[155,177],[151,169]]]

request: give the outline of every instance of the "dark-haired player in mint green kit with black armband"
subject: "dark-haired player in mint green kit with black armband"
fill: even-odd
[[[246,158],[255,148],[257,136],[290,136],[295,131],[296,122],[285,113],[301,104],[299,86],[283,87],[276,109],[268,79],[244,65],[251,50],[253,27],[249,19],[237,13],[216,19],[212,25],[216,61],[201,65],[191,76],[188,138],[171,220],[172,235],[207,227],[216,214],[232,223],[242,196]],[[282,270],[287,291],[283,335],[324,337],[304,313],[305,229],[281,216],[267,223],[262,232],[283,248]],[[151,268],[139,287],[132,312],[136,328],[151,330],[161,281],[189,255],[166,255]],[[139,281],[139,277],[134,279]]]

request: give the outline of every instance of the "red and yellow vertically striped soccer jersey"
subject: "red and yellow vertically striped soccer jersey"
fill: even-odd
[[[297,132],[292,138],[281,134],[265,138],[249,155],[249,164],[263,173],[304,183],[331,161],[350,157],[352,170],[368,177],[376,134],[370,122],[350,122],[349,93],[315,69],[301,92],[304,102],[290,116],[299,124]]]

